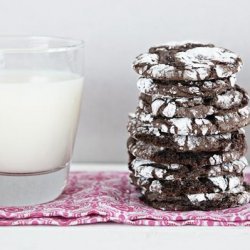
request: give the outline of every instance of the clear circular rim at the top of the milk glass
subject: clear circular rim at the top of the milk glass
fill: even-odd
[[[2,42],[27,42],[25,46],[18,47],[8,46],[2,47]],[[40,43],[36,43],[40,42]],[[51,46],[50,42],[58,43],[58,45]],[[0,53],[51,53],[63,52],[68,50],[77,50],[84,47],[84,41],[80,39],[72,39],[67,37],[57,36],[27,36],[14,35],[4,36],[0,35]]]

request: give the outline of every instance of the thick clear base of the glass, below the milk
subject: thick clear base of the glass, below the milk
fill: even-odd
[[[69,164],[51,172],[0,173],[0,206],[29,206],[56,199],[67,184]]]

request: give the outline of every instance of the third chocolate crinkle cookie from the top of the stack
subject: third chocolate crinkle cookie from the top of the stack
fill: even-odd
[[[141,94],[139,100],[140,109],[156,117],[201,119],[210,115],[226,115],[249,102],[246,92],[238,86],[209,99]]]

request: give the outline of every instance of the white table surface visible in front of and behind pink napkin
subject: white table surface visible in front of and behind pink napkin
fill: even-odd
[[[126,165],[74,164],[72,170],[126,171]],[[0,250],[245,250],[250,227],[148,227],[96,224],[74,227],[0,227]]]

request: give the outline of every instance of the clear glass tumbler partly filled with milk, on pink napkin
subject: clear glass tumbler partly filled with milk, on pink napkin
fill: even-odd
[[[0,37],[0,206],[63,191],[83,88],[83,42]]]

